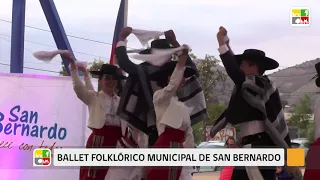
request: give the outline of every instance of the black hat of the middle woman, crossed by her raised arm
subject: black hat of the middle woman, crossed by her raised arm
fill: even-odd
[[[149,75],[150,80],[153,81],[162,81],[164,79],[168,79],[169,76],[172,75],[175,67],[177,65],[177,61],[170,61],[164,64],[159,71],[152,73]],[[197,73],[197,70],[186,66],[184,71],[184,78],[189,78]]]

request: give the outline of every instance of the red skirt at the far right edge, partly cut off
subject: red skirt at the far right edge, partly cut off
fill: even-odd
[[[304,180],[314,180],[320,177],[320,138],[314,141],[307,154]]]

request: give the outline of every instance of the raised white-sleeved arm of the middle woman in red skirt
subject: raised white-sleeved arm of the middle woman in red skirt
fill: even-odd
[[[186,61],[187,61],[188,51],[184,51],[184,53],[179,57],[179,61],[171,75],[169,84],[156,91],[153,95],[153,103],[158,104],[165,100],[171,99],[172,96],[176,94],[176,91],[181,83],[181,79],[184,75],[184,70],[186,69]]]

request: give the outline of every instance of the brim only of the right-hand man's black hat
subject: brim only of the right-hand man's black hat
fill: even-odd
[[[264,57],[264,58],[257,58],[254,56],[250,56],[250,55],[243,55],[243,54],[238,54],[235,55],[236,57],[236,61],[238,62],[239,66],[241,65],[241,61],[243,60],[253,60],[253,61],[259,61],[259,63],[263,66],[263,68],[265,70],[273,70],[273,69],[277,69],[279,67],[279,63],[269,57]]]

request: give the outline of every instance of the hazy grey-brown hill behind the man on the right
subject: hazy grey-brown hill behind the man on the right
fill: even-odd
[[[299,99],[305,95],[310,97],[312,106],[314,106],[315,100],[319,96],[320,88],[311,79],[316,75],[314,65],[318,62],[320,62],[320,58],[269,74],[269,78],[276,83],[279,89],[281,99],[287,101],[289,106],[298,103]],[[224,70],[222,66],[217,68]],[[224,86],[223,91],[221,91],[222,86]],[[214,88],[214,93],[216,97],[219,97],[218,101],[220,103],[228,104],[232,90],[233,82],[228,78],[224,85]]]

